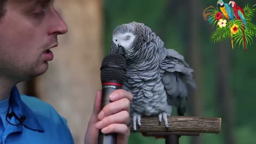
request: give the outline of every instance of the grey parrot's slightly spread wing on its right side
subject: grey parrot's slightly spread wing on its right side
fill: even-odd
[[[189,68],[182,55],[172,49],[164,49],[166,55],[159,63],[162,81],[167,93],[167,102],[170,105],[179,106],[180,98],[186,98],[188,94],[187,85],[196,87],[193,78],[193,69]]]

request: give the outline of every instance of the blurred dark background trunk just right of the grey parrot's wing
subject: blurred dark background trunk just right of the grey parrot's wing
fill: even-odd
[[[202,116],[202,70],[201,70],[201,39],[199,38],[200,25],[202,17],[197,15],[202,15],[201,12],[201,1],[199,0],[188,0],[187,3],[188,14],[188,63],[191,68],[194,69],[194,78],[197,84],[195,90],[189,90],[188,101],[191,103],[191,115]],[[202,138],[192,137],[191,143],[199,144],[202,143]]]

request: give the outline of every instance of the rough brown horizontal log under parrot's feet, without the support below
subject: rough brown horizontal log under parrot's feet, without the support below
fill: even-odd
[[[189,135],[189,133],[220,133],[221,130],[221,118],[169,116],[168,122],[169,129],[166,129],[164,122],[159,125],[158,117],[141,117],[141,127],[137,125],[137,132],[171,132]],[[132,124],[130,130],[133,132]]]

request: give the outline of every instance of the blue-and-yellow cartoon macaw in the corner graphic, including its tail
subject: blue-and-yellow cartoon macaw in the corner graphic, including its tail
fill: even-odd
[[[224,3],[222,0],[217,2],[217,6],[220,6],[220,11],[223,13],[224,17],[227,20],[234,20],[234,12],[232,11],[231,7],[227,4]],[[230,40],[231,40],[231,45],[232,45],[232,49],[234,49],[234,44],[233,44],[233,37],[232,37],[232,33],[230,30]]]

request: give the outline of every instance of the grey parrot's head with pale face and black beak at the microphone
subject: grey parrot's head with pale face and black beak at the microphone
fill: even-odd
[[[145,32],[147,31],[147,32]],[[111,44],[111,53],[119,53],[125,55],[133,55],[140,51],[143,41],[143,35],[149,34],[151,29],[143,23],[130,22],[116,27],[113,31],[113,39]]]

